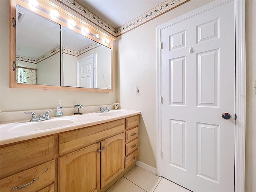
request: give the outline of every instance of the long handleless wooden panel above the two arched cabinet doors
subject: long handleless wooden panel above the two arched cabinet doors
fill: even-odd
[[[125,119],[116,120],[59,135],[60,154],[78,150],[124,131]]]

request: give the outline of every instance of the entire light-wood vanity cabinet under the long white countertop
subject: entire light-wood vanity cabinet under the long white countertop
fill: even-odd
[[[136,164],[139,115],[0,146],[1,192],[104,192]],[[38,179],[35,179],[37,178]]]

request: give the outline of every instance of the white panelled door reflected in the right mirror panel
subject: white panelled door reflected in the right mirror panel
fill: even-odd
[[[97,54],[93,54],[77,61],[77,86],[93,88],[97,87]]]

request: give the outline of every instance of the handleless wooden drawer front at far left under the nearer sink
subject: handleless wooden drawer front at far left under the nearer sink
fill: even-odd
[[[1,179],[48,162],[53,156],[53,136],[1,147]]]

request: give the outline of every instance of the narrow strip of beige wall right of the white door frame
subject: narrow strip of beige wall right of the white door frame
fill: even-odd
[[[245,191],[256,192],[256,1],[246,0]]]

